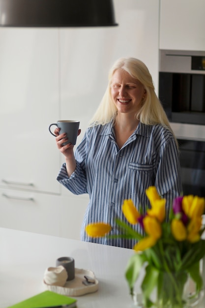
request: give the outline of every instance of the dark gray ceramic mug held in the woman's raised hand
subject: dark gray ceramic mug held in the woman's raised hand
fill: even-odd
[[[76,144],[76,140],[78,137],[78,129],[79,129],[79,125],[80,125],[80,121],[72,121],[72,120],[59,120],[57,121],[57,123],[52,123],[49,126],[49,131],[50,133],[56,137],[55,134],[52,133],[51,131],[51,126],[52,125],[56,125],[57,127],[60,128],[59,133],[66,133],[67,134],[67,138],[68,141],[64,142],[63,145],[65,146],[68,143],[72,143],[72,145]]]

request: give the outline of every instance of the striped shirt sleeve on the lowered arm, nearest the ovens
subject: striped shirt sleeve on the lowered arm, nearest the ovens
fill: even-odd
[[[161,197],[167,200],[168,217],[174,199],[182,194],[179,154],[174,138],[161,145],[155,187]]]

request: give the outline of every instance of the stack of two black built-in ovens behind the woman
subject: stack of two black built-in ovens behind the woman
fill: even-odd
[[[183,194],[205,197],[205,52],[160,50],[159,99],[178,140]]]

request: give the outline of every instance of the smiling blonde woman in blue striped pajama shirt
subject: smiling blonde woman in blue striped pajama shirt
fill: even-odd
[[[114,64],[102,102],[75,154],[71,144],[62,146],[66,140],[60,133],[56,137],[65,156],[58,181],[74,194],[89,194],[83,241],[132,248],[132,240],[89,238],[85,226],[103,221],[113,226],[111,234],[117,234],[115,218],[125,219],[123,200],[132,199],[145,212],[145,190],[151,185],[167,199],[169,214],[170,203],[181,193],[177,143],[143,62],[122,58]],[[142,232],[139,225],[136,230]]]

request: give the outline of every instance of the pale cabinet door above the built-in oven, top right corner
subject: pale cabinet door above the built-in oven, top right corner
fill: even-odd
[[[204,0],[161,0],[160,49],[205,50]]]

